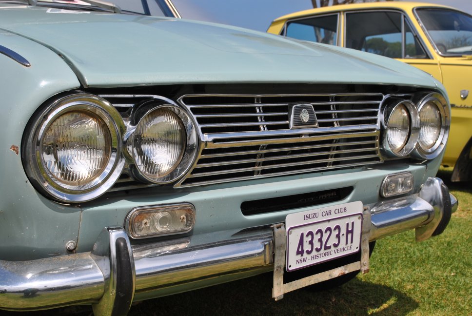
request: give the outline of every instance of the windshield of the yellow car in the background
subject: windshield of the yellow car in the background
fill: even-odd
[[[472,55],[472,17],[447,9],[417,9],[433,45],[442,56]]]

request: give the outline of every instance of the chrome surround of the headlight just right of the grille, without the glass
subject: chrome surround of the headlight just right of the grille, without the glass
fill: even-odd
[[[391,144],[389,143],[389,122],[392,118],[392,114],[394,111],[397,111],[400,107],[404,107],[406,111],[408,111],[409,119],[410,119],[410,126],[409,126],[409,133],[408,137],[406,138],[405,143],[402,145],[401,149],[395,151]],[[416,147],[419,138],[419,129],[420,129],[420,120],[419,120],[419,112],[414,105],[414,103],[410,100],[398,100],[394,99],[393,103],[387,105],[382,112],[382,127],[383,127],[383,150],[384,153],[389,157],[406,157]]]

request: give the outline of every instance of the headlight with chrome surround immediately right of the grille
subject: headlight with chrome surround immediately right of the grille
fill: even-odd
[[[383,118],[383,144],[387,155],[405,157],[410,154],[419,136],[419,114],[413,102],[403,100],[387,106]]]

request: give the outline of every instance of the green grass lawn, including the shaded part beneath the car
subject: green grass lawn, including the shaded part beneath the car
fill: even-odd
[[[440,178],[450,178],[442,170]],[[301,289],[272,299],[272,275],[265,274],[175,296],[147,300],[130,316],[154,315],[411,315],[472,316],[471,183],[445,181],[459,199],[445,232],[424,242],[409,231],[377,241],[370,273],[322,292]],[[61,315],[76,308],[28,313]],[[20,313],[23,314],[23,313]],[[2,316],[20,315],[0,312]],[[90,315],[89,307],[79,315]]]

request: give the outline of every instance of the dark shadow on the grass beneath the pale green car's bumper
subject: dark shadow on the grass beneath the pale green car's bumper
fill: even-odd
[[[354,279],[331,290],[300,289],[272,299],[272,274],[192,292],[147,300],[131,308],[138,315],[406,315],[418,307],[388,286]]]

